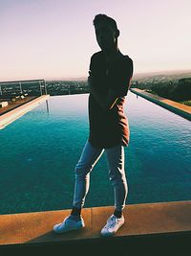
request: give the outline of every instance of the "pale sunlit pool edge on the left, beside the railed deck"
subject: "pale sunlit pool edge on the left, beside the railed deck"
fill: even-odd
[[[1,115],[0,116],[0,129],[5,128],[6,126],[10,125],[14,120],[23,116],[25,113],[32,110],[32,108],[34,108],[35,106],[40,105],[42,102],[47,100],[49,97],[50,97],[50,95],[42,95],[24,105],[19,105],[18,107],[12,109],[8,113]]]

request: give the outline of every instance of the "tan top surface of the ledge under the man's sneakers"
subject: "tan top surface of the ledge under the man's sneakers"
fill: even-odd
[[[114,206],[84,208],[82,217],[86,227],[61,235],[53,233],[53,224],[63,221],[71,209],[0,215],[0,226],[4,233],[0,237],[0,244],[100,239],[100,230],[113,211]],[[116,237],[191,231],[191,200],[127,204],[123,214],[126,221]]]

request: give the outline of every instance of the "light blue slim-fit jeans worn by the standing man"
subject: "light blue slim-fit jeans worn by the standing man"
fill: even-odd
[[[122,211],[127,198],[127,181],[124,171],[124,146],[118,144],[109,149],[97,149],[87,140],[75,166],[74,202],[75,208],[82,208],[90,186],[90,173],[96,162],[106,151],[109,179],[114,187],[115,208]],[[103,192],[104,193],[104,192]]]

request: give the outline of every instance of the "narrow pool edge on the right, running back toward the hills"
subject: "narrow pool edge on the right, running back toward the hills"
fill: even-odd
[[[145,92],[144,90],[140,90],[138,88],[131,88],[130,91],[188,120],[191,120],[191,106],[189,105],[182,105],[180,103],[159,97],[158,95]]]

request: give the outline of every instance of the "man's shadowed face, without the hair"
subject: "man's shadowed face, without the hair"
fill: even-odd
[[[117,32],[107,23],[95,26],[96,41],[102,51],[112,50],[117,44]]]

